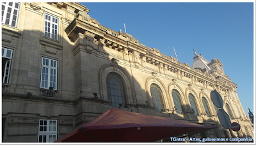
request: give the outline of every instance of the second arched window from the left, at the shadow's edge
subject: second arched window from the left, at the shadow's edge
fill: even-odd
[[[163,95],[162,95],[161,89],[156,84],[151,84],[150,91],[151,91],[151,96],[154,100],[156,111],[161,112],[161,109],[164,109]]]

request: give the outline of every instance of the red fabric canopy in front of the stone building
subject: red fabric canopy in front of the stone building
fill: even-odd
[[[153,142],[213,128],[216,127],[110,109],[55,142]]]

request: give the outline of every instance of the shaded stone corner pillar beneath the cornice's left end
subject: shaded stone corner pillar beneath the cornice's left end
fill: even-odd
[[[99,80],[97,74],[96,56],[93,52],[93,34],[79,34],[77,46],[74,49],[76,71],[76,97],[93,97],[93,93],[99,94]],[[90,77],[88,77],[90,74]]]

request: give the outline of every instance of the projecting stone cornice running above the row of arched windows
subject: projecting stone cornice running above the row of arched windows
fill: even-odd
[[[78,38],[78,33],[84,34],[86,31],[88,31],[95,35],[102,36],[106,47],[118,51],[127,48],[131,53],[136,51],[139,53],[139,56],[145,56],[148,63],[152,63],[156,66],[161,65],[159,66],[159,69],[164,67],[165,70],[169,70],[171,72],[179,72],[180,76],[182,75],[183,77],[188,77],[189,79],[193,77],[195,81],[204,83],[204,86],[205,84],[209,84],[209,86],[217,85],[217,80],[212,75],[208,75],[206,72],[201,72],[200,70],[191,68],[191,66],[186,63],[180,63],[174,57],[165,56],[164,54],[161,54],[161,52],[159,52],[157,49],[150,49],[145,45],[141,45],[138,40],[131,36],[131,34],[122,33],[121,31],[113,31],[108,27],[95,24],[90,20],[91,19],[86,20],[83,18],[83,15],[79,15],[71,22],[71,24],[65,29],[65,32],[68,34],[68,37],[71,41],[76,41]],[[218,61],[218,59],[216,59],[216,61]],[[225,83],[221,83],[221,85],[219,83],[219,86],[221,86],[221,88],[231,89],[225,85]]]

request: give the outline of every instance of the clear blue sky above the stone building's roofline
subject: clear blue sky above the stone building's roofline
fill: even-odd
[[[248,116],[253,112],[253,3],[81,3],[90,17],[124,29],[140,43],[193,65],[193,49],[207,61],[218,58],[237,84]]]

